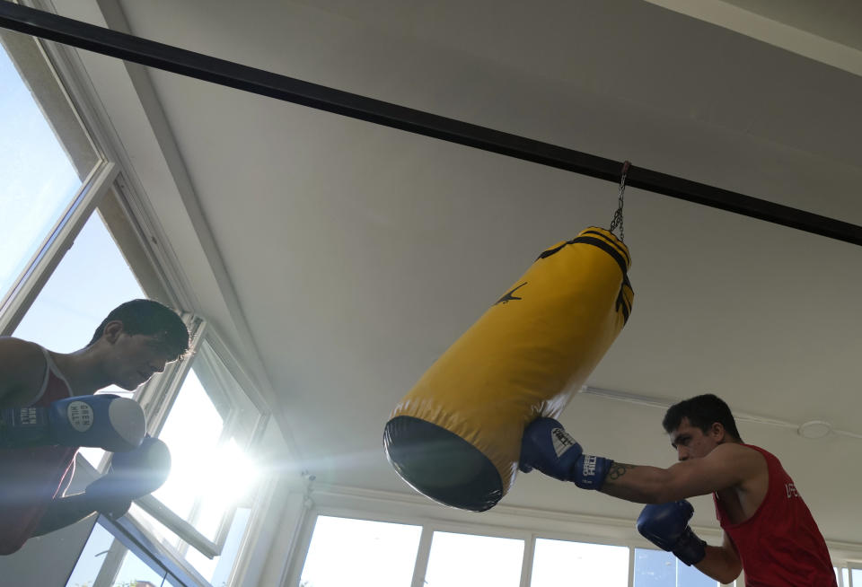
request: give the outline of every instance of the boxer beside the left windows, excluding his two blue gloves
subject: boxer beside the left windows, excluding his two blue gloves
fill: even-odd
[[[150,300],[115,308],[75,353],[0,337],[0,407],[48,407],[111,384],[135,390],[188,348],[189,331],[180,317]],[[0,555],[95,512],[92,499],[84,505],[83,494],[64,496],[76,452],[65,446],[0,449]]]

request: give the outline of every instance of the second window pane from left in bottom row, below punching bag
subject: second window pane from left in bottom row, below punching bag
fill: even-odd
[[[523,540],[435,532],[427,587],[517,587]]]

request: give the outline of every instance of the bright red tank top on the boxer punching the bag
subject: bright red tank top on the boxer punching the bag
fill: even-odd
[[[721,528],[734,540],[745,572],[746,587],[835,587],[835,572],[826,542],[793,479],[768,451],[760,452],[769,468],[770,485],[757,512],[731,524],[712,495]]]

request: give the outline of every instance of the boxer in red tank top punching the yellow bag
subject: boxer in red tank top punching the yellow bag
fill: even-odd
[[[747,584],[836,585],[826,542],[793,479],[770,452],[743,443],[722,399],[686,399],[667,410],[662,425],[680,461],[667,469],[584,454],[545,417],[524,430],[519,469],[647,504],[637,522],[641,535],[720,583],[744,571]],[[724,530],[721,546],[707,545],[689,526],[694,509],[686,498],[707,494]]]

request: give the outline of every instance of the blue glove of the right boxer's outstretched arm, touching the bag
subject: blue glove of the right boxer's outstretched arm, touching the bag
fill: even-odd
[[[601,489],[613,460],[584,454],[563,426],[553,418],[534,420],[523,431],[518,469],[539,469],[560,481],[574,481],[582,489]]]

